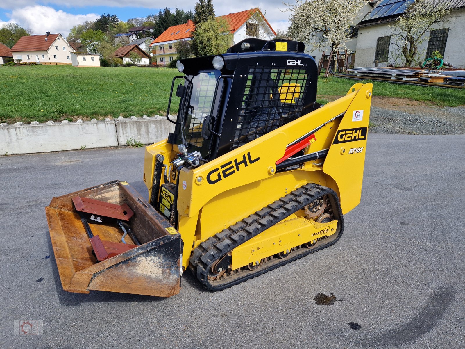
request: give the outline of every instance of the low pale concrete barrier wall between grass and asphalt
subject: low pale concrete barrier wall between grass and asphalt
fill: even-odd
[[[116,147],[126,145],[133,137],[135,141],[151,144],[161,141],[173,132],[174,124],[166,117],[144,115],[142,118],[132,116],[105,121],[63,121],[54,123],[37,121],[24,125],[0,125],[0,155],[43,153],[60,150],[74,150],[85,146],[88,148]]]

